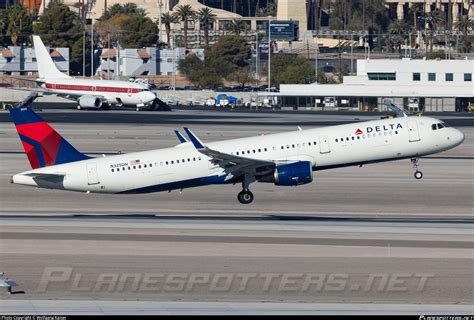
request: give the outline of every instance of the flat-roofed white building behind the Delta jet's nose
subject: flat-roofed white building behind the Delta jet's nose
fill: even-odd
[[[474,60],[357,60],[357,74],[342,84],[282,84],[274,95],[303,109],[383,110],[393,98],[412,111],[457,111],[474,102],[473,73]]]

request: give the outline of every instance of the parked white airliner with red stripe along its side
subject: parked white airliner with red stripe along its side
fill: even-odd
[[[131,81],[75,79],[62,73],[54,64],[39,36],[33,36],[39,78],[35,82],[42,94],[54,94],[77,102],[77,108],[110,109],[133,106],[160,109],[163,104],[148,86]]]

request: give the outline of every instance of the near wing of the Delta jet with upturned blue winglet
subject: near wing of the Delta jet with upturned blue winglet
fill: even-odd
[[[213,164],[225,169],[224,173],[231,174],[231,176],[240,176],[246,173],[265,175],[271,172],[276,166],[273,161],[241,157],[210,149],[206,147],[191,130],[184,128],[184,131],[186,131],[197,151],[211,158],[210,161]]]

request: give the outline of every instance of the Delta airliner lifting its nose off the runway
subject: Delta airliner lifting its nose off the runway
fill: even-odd
[[[314,172],[411,159],[416,179],[421,156],[464,141],[461,131],[424,116],[403,116],[204,143],[189,128],[176,146],[91,158],[75,149],[29,105],[10,109],[32,170],[14,184],[86,193],[137,194],[213,184],[242,184],[237,199],[249,204],[255,182],[298,186]]]

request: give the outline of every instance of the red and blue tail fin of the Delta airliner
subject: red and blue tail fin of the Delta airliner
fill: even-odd
[[[33,169],[89,159],[61,137],[31,107],[12,108],[10,115]]]

